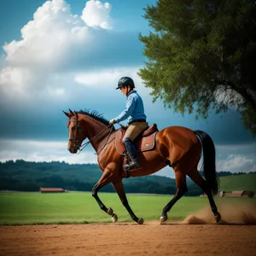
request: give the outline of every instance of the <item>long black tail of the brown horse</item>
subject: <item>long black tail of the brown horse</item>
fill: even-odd
[[[194,131],[200,137],[203,148],[203,174],[207,183],[211,186],[212,193],[218,193],[218,177],[215,166],[215,147],[212,138],[204,131]]]

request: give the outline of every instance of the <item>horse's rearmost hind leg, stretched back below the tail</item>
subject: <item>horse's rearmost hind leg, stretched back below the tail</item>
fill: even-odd
[[[215,201],[213,200],[212,197],[212,189],[210,186],[207,185],[207,181],[205,181],[200,173],[197,171],[196,168],[197,165],[195,165],[195,167],[193,167],[189,173],[188,176],[204,191],[204,193],[207,195],[208,200],[210,202],[211,208],[212,208],[212,212],[214,214],[214,218],[216,220],[216,222],[218,223],[221,215],[218,212],[218,209],[216,207]]]

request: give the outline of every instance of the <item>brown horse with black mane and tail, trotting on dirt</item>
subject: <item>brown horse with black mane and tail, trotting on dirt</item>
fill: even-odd
[[[113,125],[109,125],[107,119],[102,118],[96,112],[79,111],[64,112],[68,117],[69,139],[67,149],[75,154],[81,147],[85,138],[89,139],[92,147],[96,150],[97,161],[102,169],[102,177],[92,189],[92,196],[96,199],[99,207],[112,216],[113,222],[117,221],[117,215],[111,207],[107,208],[97,195],[99,189],[108,183],[113,183],[123,205],[130,213],[131,218],[138,224],[143,224],[143,218],[137,218],[128,204],[122,179],[126,177],[123,170],[124,156],[116,149],[116,131]],[[200,139],[199,139],[200,137]],[[198,162],[201,158],[201,145],[203,148],[204,175],[203,179],[197,171]],[[82,145],[83,147],[84,145]],[[163,208],[160,223],[167,219],[167,212],[188,191],[186,175],[188,175],[208,196],[212,212],[216,222],[221,216],[212,198],[212,194],[218,193],[218,177],[215,170],[215,148],[211,137],[204,131],[191,131],[181,126],[170,126],[156,133],[155,147],[152,150],[141,152],[141,172],[133,172],[133,177],[146,176],[160,171],[163,167],[172,166],[175,177],[177,192]]]

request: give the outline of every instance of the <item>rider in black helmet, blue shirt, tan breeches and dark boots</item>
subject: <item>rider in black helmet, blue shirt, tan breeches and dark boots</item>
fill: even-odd
[[[126,96],[126,108],[115,119],[109,121],[110,124],[119,123],[125,119],[128,119],[128,128],[123,138],[123,143],[128,154],[131,157],[131,164],[125,165],[125,170],[140,169],[140,159],[137,153],[137,149],[133,143],[135,138],[148,127],[146,122],[147,116],[144,113],[143,100],[141,96],[137,94],[134,82],[129,77],[123,77],[119,79],[118,87],[116,90]]]

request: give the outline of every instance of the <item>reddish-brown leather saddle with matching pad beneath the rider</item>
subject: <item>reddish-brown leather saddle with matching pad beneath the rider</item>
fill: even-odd
[[[125,146],[122,143],[123,137],[125,135],[125,131],[128,127],[122,126],[116,137],[115,137],[115,147],[119,154],[125,155]],[[148,128],[140,133],[138,137],[135,139],[134,144],[137,147],[138,152],[144,152],[154,149],[155,146],[155,136],[158,132],[158,128],[156,124],[148,126]]]

